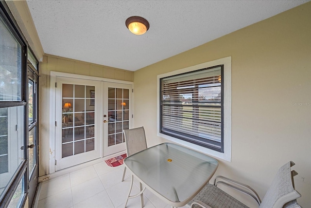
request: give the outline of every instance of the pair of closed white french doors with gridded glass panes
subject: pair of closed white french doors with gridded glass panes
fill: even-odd
[[[133,85],[57,74],[51,74],[57,86],[52,93],[56,125],[51,173],[125,151],[123,130],[132,128]]]

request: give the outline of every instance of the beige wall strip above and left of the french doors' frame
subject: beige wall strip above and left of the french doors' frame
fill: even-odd
[[[39,65],[39,176],[47,174],[50,154],[50,73],[64,72],[77,75],[133,81],[133,72],[52,55],[43,56]]]

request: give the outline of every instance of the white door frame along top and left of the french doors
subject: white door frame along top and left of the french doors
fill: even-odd
[[[113,83],[120,83],[120,84],[130,84],[133,85],[133,82],[131,81],[123,81],[123,80],[117,80],[117,79],[108,79],[108,78],[101,78],[101,77],[95,77],[95,76],[85,76],[85,75],[75,75],[75,74],[69,74],[69,73],[63,73],[63,72],[54,72],[51,71],[50,73],[50,152],[49,152],[49,158],[47,158],[47,172],[46,174],[51,174],[55,172],[55,121],[56,121],[56,106],[55,106],[55,97],[56,97],[56,76],[60,77],[67,77],[67,78],[78,78],[78,79],[87,79],[87,80],[95,80],[95,81],[103,81],[103,82],[113,82]],[[134,86],[134,85],[133,85]],[[101,102],[103,103],[103,96],[101,98]],[[131,106],[133,106],[133,100],[130,100]],[[101,115],[103,118],[103,115]],[[101,125],[103,126],[103,125]],[[102,127],[103,128],[103,127]],[[101,132],[103,135],[103,132]],[[102,142],[103,144],[104,142]],[[102,147],[104,150],[104,147]],[[104,153],[102,151],[101,157],[103,157]]]

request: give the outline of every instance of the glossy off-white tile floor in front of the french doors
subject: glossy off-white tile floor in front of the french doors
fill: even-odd
[[[35,208],[124,208],[130,187],[129,171],[121,182],[124,165],[109,167],[99,162],[39,184]],[[139,192],[134,181],[133,193]],[[144,191],[145,208],[170,208],[151,191]],[[129,199],[127,208],[140,208],[140,197]],[[184,207],[186,208],[186,206]]]

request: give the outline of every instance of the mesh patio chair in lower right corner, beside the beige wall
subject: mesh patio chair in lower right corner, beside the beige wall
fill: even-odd
[[[251,187],[224,176],[216,176],[214,185],[207,184],[188,205],[191,208],[248,208],[217,187],[222,184],[252,197],[258,203],[259,208],[301,208],[296,201],[301,195],[294,189],[294,176],[298,173],[295,170],[291,171],[292,166],[294,162],[290,161],[277,171],[262,202],[257,192]]]

